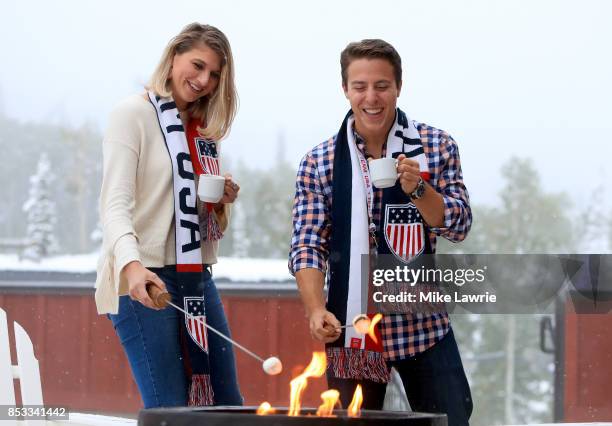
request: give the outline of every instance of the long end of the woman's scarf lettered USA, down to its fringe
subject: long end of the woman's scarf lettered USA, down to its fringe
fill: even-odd
[[[188,371],[191,374],[189,386],[189,405],[212,405],[214,395],[210,382],[210,363],[208,359],[208,336],[206,328],[194,318],[206,320],[203,294],[193,294],[197,280],[203,279],[205,273],[202,265],[201,222],[197,208],[195,174],[202,159],[192,161],[190,147],[185,135],[176,103],[172,98],[161,98],[149,92],[149,100],[155,107],[159,126],[166,142],[166,148],[172,161],[174,189],[174,218],[176,229],[176,271],[179,284],[185,289],[182,301],[183,309],[191,315],[185,316],[182,329],[187,336],[184,339],[189,360]],[[191,144],[194,144],[193,138]],[[206,143],[203,141],[202,143]],[[216,157],[216,151],[215,151]],[[201,165],[200,165],[201,167]],[[200,169],[201,170],[201,169]],[[208,211],[209,217],[212,212]],[[210,229],[210,227],[208,228]],[[211,232],[214,234],[214,232]]]

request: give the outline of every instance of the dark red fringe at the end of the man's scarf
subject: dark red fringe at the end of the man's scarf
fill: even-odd
[[[388,383],[391,373],[381,352],[353,348],[327,348],[327,368],[340,379]]]

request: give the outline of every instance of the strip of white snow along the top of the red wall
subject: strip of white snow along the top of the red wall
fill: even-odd
[[[0,271],[53,271],[91,273],[96,271],[98,253],[49,257],[40,262],[19,260],[15,254],[0,255]],[[214,265],[216,279],[240,282],[292,281],[286,259],[220,257]]]

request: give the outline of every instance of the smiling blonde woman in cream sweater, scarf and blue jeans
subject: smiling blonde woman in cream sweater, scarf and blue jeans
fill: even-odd
[[[199,175],[219,172],[215,141],[236,108],[229,42],[194,23],[170,41],[147,92],[115,108],[105,133],[96,304],[112,320],[145,408],[242,404],[233,348],[193,319],[229,335],[210,265],[239,187],[226,176],[216,204],[196,193]],[[147,285],[192,316],[157,309]]]

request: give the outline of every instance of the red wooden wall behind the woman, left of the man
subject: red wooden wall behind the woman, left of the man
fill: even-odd
[[[221,293],[233,337],[263,357],[279,356],[284,365],[282,374],[270,377],[256,360],[236,350],[245,404],[267,400],[288,405],[289,381],[310,362],[313,351],[323,349],[310,337],[297,292]],[[127,359],[110,321],[96,314],[92,290],[62,294],[60,289],[12,289],[0,293],[0,308],[8,315],[11,348],[14,321],[34,343],[46,404],[99,413],[134,413],[141,408]],[[324,378],[310,380],[305,405],[318,406],[325,388]]]

